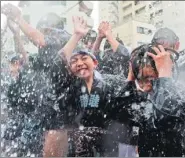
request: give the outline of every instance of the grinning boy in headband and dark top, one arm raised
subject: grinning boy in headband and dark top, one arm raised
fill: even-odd
[[[76,51],[73,52],[78,42],[89,30],[86,26],[86,21],[80,17],[73,17],[73,23],[74,34],[60,51],[62,62],[59,62],[60,65],[58,63],[54,65],[53,71],[51,71],[51,79],[57,96],[64,94],[64,98],[59,101],[59,106],[64,117],[64,129],[67,130],[68,135],[69,131],[73,131],[72,133],[74,133],[70,139],[74,139],[75,153],[69,153],[69,155],[94,156],[93,146],[97,149],[97,140],[100,140],[98,135],[101,135],[100,131],[103,131],[103,127],[105,126],[102,108],[106,104],[106,96],[104,95],[106,89],[102,80],[98,79],[94,73],[98,64],[96,57],[88,50],[77,48]],[[66,65],[69,65],[70,71],[66,69]],[[82,130],[78,129],[80,126],[83,127]],[[90,133],[92,133],[92,136]],[[44,147],[45,157],[61,156],[56,152],[58,147],[55,145],[54,148],[52,148],[50,145],[54,140],[55,144],[58,144],[56,138],[58,132],[55,132],[54,135],[55,136],[48,134],[46,136]],[[62,132],[60,135],[66,134]],[[97,138],[93,135],[97,135]],[[93,143],[91,137],[97,140],[94,140]],[[86,141],[86,143],[84,141]],[[99,143],[101,144],[101,140]],[[63,146],[66,146],[66,144],[68,144],[68,142],[65,142],[65,144],[63,142]],[[61,145],[59,146],[61,147]],[[60,150],[62,149],[64,149],[64,147],[61,147]],[[61,154],[61,152],[59,153]]]

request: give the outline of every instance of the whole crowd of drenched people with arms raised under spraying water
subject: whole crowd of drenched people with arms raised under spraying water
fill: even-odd
[[[185,87],[177,80],[180,41],[171,29],[129,52],[106,21],[96,32],[74,16],[69,34],[54,13],[37,28],[12,4],[1,13],[15,41],[3,89],[2,156],[184,156]],[[20,31],[36,55],[25,50]]]

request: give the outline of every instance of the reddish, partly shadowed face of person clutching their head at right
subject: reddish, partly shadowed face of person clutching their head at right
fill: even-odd
[[[144,92],[150,92],[152,90],[151,81],[158,77],[155,70],[150,65],[141,68],[138,76],[141,76],[137,80],[139,88]]]

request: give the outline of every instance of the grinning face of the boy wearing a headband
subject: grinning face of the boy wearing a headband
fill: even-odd
[[[93,71],[97,64],[97,61],[93,60],[89,55],[75,55],[70,60],[72,73],[83,79],[93,77]]]

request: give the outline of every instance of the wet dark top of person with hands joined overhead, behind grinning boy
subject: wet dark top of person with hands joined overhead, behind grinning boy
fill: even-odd
[[[99,53],[96,57],[98,59],[98,71],[101,74],[124,75],[128,74],[128,61],[130,59],[128,49],[119,44],[116,52],[106,51],[103,56]]]

